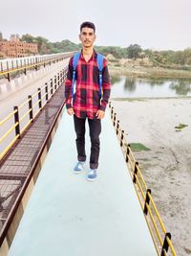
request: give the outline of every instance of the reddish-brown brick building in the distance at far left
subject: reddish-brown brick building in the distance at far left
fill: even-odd
[[[38,54],[37,43],[21,41],[18,35],[11,35],[10,41],[0,33],[0,58],[21,58]]]

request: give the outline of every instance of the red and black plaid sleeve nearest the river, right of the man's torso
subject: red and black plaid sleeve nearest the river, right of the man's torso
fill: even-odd
[[[108,71],[107,59],[103,60],[103,71],[102,71],[102,98],[99,109],[105,111],[105,108],[109,102],[110,93],[111,93],[111,82],[110,75]]]

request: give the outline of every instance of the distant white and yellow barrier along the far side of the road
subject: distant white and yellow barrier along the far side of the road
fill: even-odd
[[[74,55],[74,52],[67,52],[62,54],[44,55],[44,56],[32,56],[26,58],[6,58],[0,60],[0,76],[5,76],[11,81],[11,73],[23,71],[27,74],[28,69],[36,69],[38,66],[46,66],[52,62],[62,60],[64,58],[70,58]],[[6,76],[7,75],[7,76]]]

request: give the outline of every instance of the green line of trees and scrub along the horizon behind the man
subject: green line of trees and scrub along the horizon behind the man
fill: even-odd
[[[78,51],[81,44],[75,44],[70,40],[62,40],[60,42],[50,42],[42,36],[32,36],[29,34],[22,35],[21,40],[37,43],[39,54],[55,54],[62,52]],[[131,44],[128,47],[119,46],[95,46],[96,51],[104,56],[112,55],[114,58],[149,58],[156,66],[173,66],[191,65],[191,48],[183,51],[152,51],[150,49],[142,49],[138,44]]]

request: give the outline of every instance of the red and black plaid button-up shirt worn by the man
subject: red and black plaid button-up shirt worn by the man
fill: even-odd
[[[110,76],[106,58],[103,59],[102,97],[99,96],[99,70],[96,62],[96,51],[88,60],[81,55],[76,66],[76,87],[72,104],[73,57],[69,61],[67,79],[65,81],[66,107],[74,108],[78,118],[95,119],[98,109],[105,110],[111,92]]]

